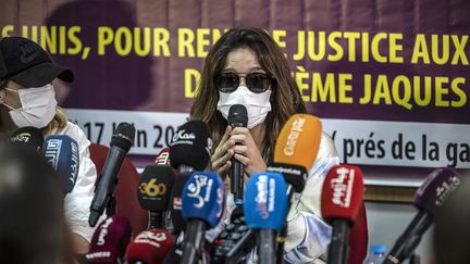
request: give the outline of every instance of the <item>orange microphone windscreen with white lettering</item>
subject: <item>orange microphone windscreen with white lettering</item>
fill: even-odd
[[[322,124],[309,114],[295,114],[283,126],[274,149],[274,162],[310,169],[320,147]]]

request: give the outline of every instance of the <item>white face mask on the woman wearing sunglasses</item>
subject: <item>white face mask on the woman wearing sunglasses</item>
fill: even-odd
[[[261,124],[271,111],[271,90],[255,93],[248,87],[240,86],[233,92],[219,91],[218,110],[225,120],[228,117],[228,110],[234,104],[243,104],[248,112],[248,129]]]

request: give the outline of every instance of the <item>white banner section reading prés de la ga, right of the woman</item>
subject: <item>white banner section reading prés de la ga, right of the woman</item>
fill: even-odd
[[[345,163],[470,167],[470,125],[352,120],[322,122]]]

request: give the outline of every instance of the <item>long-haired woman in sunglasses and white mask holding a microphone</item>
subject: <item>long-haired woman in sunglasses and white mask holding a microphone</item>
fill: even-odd
[[[227,124],[234,104],[247,109],[247,127]],[[306,113],[306,108],[287,60],[271,36],[260,28],[226,32],[209,51],[190,110],[191,120],[203,121],[211,129],[212,169],[227,179],[234,158],[243,164],[245,177],[265,172],[281,129],[297,113]],[[324,133],[317,156],[307,168],[305,191],[287,215],[284,260],[290,263],[320,261],[330,242],[331,228],[320,216],[320,190],[323,177],[339,159]],[[228,196],[227,212],[233,208]]]

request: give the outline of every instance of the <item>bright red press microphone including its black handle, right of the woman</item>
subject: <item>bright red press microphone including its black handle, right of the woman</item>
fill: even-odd
[[[321,212],[333,227],[327,264],[348,261],[349,229],[362,206],[362,172],[357,166],[342,164],[330,168],[322,187]]]

